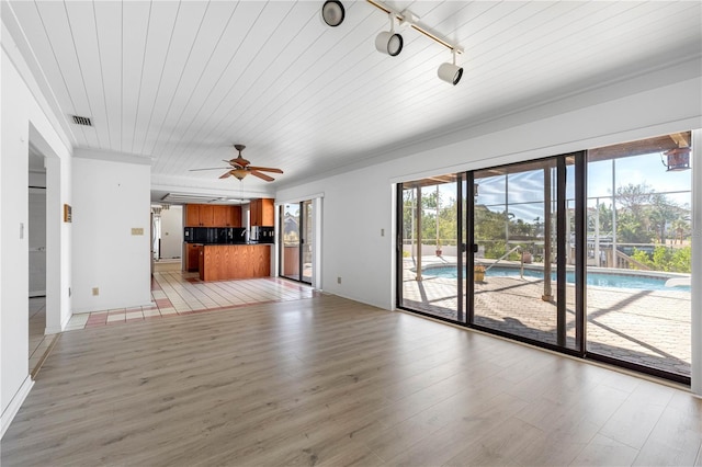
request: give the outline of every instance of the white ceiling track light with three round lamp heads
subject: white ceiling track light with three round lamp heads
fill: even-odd
[[[375,48],[378,52],[387,54],[390,57],[396,57],[403,52],[405,42],[400,34],[395,33],[394,29],[395,20],[397,19],[401,26],[410,26],[430,39],[449,48],[453,54],[453,62],[441,64],[437,70],[437,75],[442,81],[453,86],[456,86],[458,81],[461,81],[463,68],[456,65],[456,54],[463,54],[463,47],[460,44],[452,43],[448,38],[432,32],[429,27],[420,24],[410,11],[396,11],[392,7],[376,0],[366,0],[366,2],[384,11],[390,18],[390,30],[383,31],[375,37]],[[329,26],[338,26],[343,22],[346,16],[343,4],[337,0],[326,1],[321,7],[321,16]]]

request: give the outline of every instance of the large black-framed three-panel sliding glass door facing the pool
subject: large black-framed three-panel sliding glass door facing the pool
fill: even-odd
[[[687,132],[399,184],[398,307],[689,384],[691,153]]]

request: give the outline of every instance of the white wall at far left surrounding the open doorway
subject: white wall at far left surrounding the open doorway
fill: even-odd
[[[27,79],[26,64],[19,56],[14,43],[5,30],[4,16],[1,31],[0,57],[0,405],[2,406],[2,434],[26,397],[32,380],[29,376],[29,144],[41,139],[38,146],[50,152],[57,161],[70,160],[66,135],[54,126],[55,119],[44,112],[45,101],[36,92],[35,83]],[[41,138],[39,138],[41,136]],[[64,162],[61,162],[64,163]],[[65,162],[69,163],[69,162]],[[69,175],[58,173],[60,180]],[[47,197],[49,194],[47,193]],[[60,192],[56,204],[70,202],[69,192]],[[47,215],[49,232],[54,232],[52,253],[57,258],[56,269],[66,267],[61,258],[69,251],[70,232],[63,235],[60,226]],[[24,229],[23,235],[21,235]],[[47,244],[48,248],[48,244]],[[47,251],[48,253],[48,251]],[[49,276],[50,277],[50,276]],[[47,283],[49,288],[59,284],[57,277]],[[50,299],[56,304],[53,317],[60,321],[60,310],[68,309],[68,289],[56,291]],[[48,299],[48,297],[47,297]],[[47,320],[49,311],[47,310]],[[68,317],[65,318],[67,321]]]

